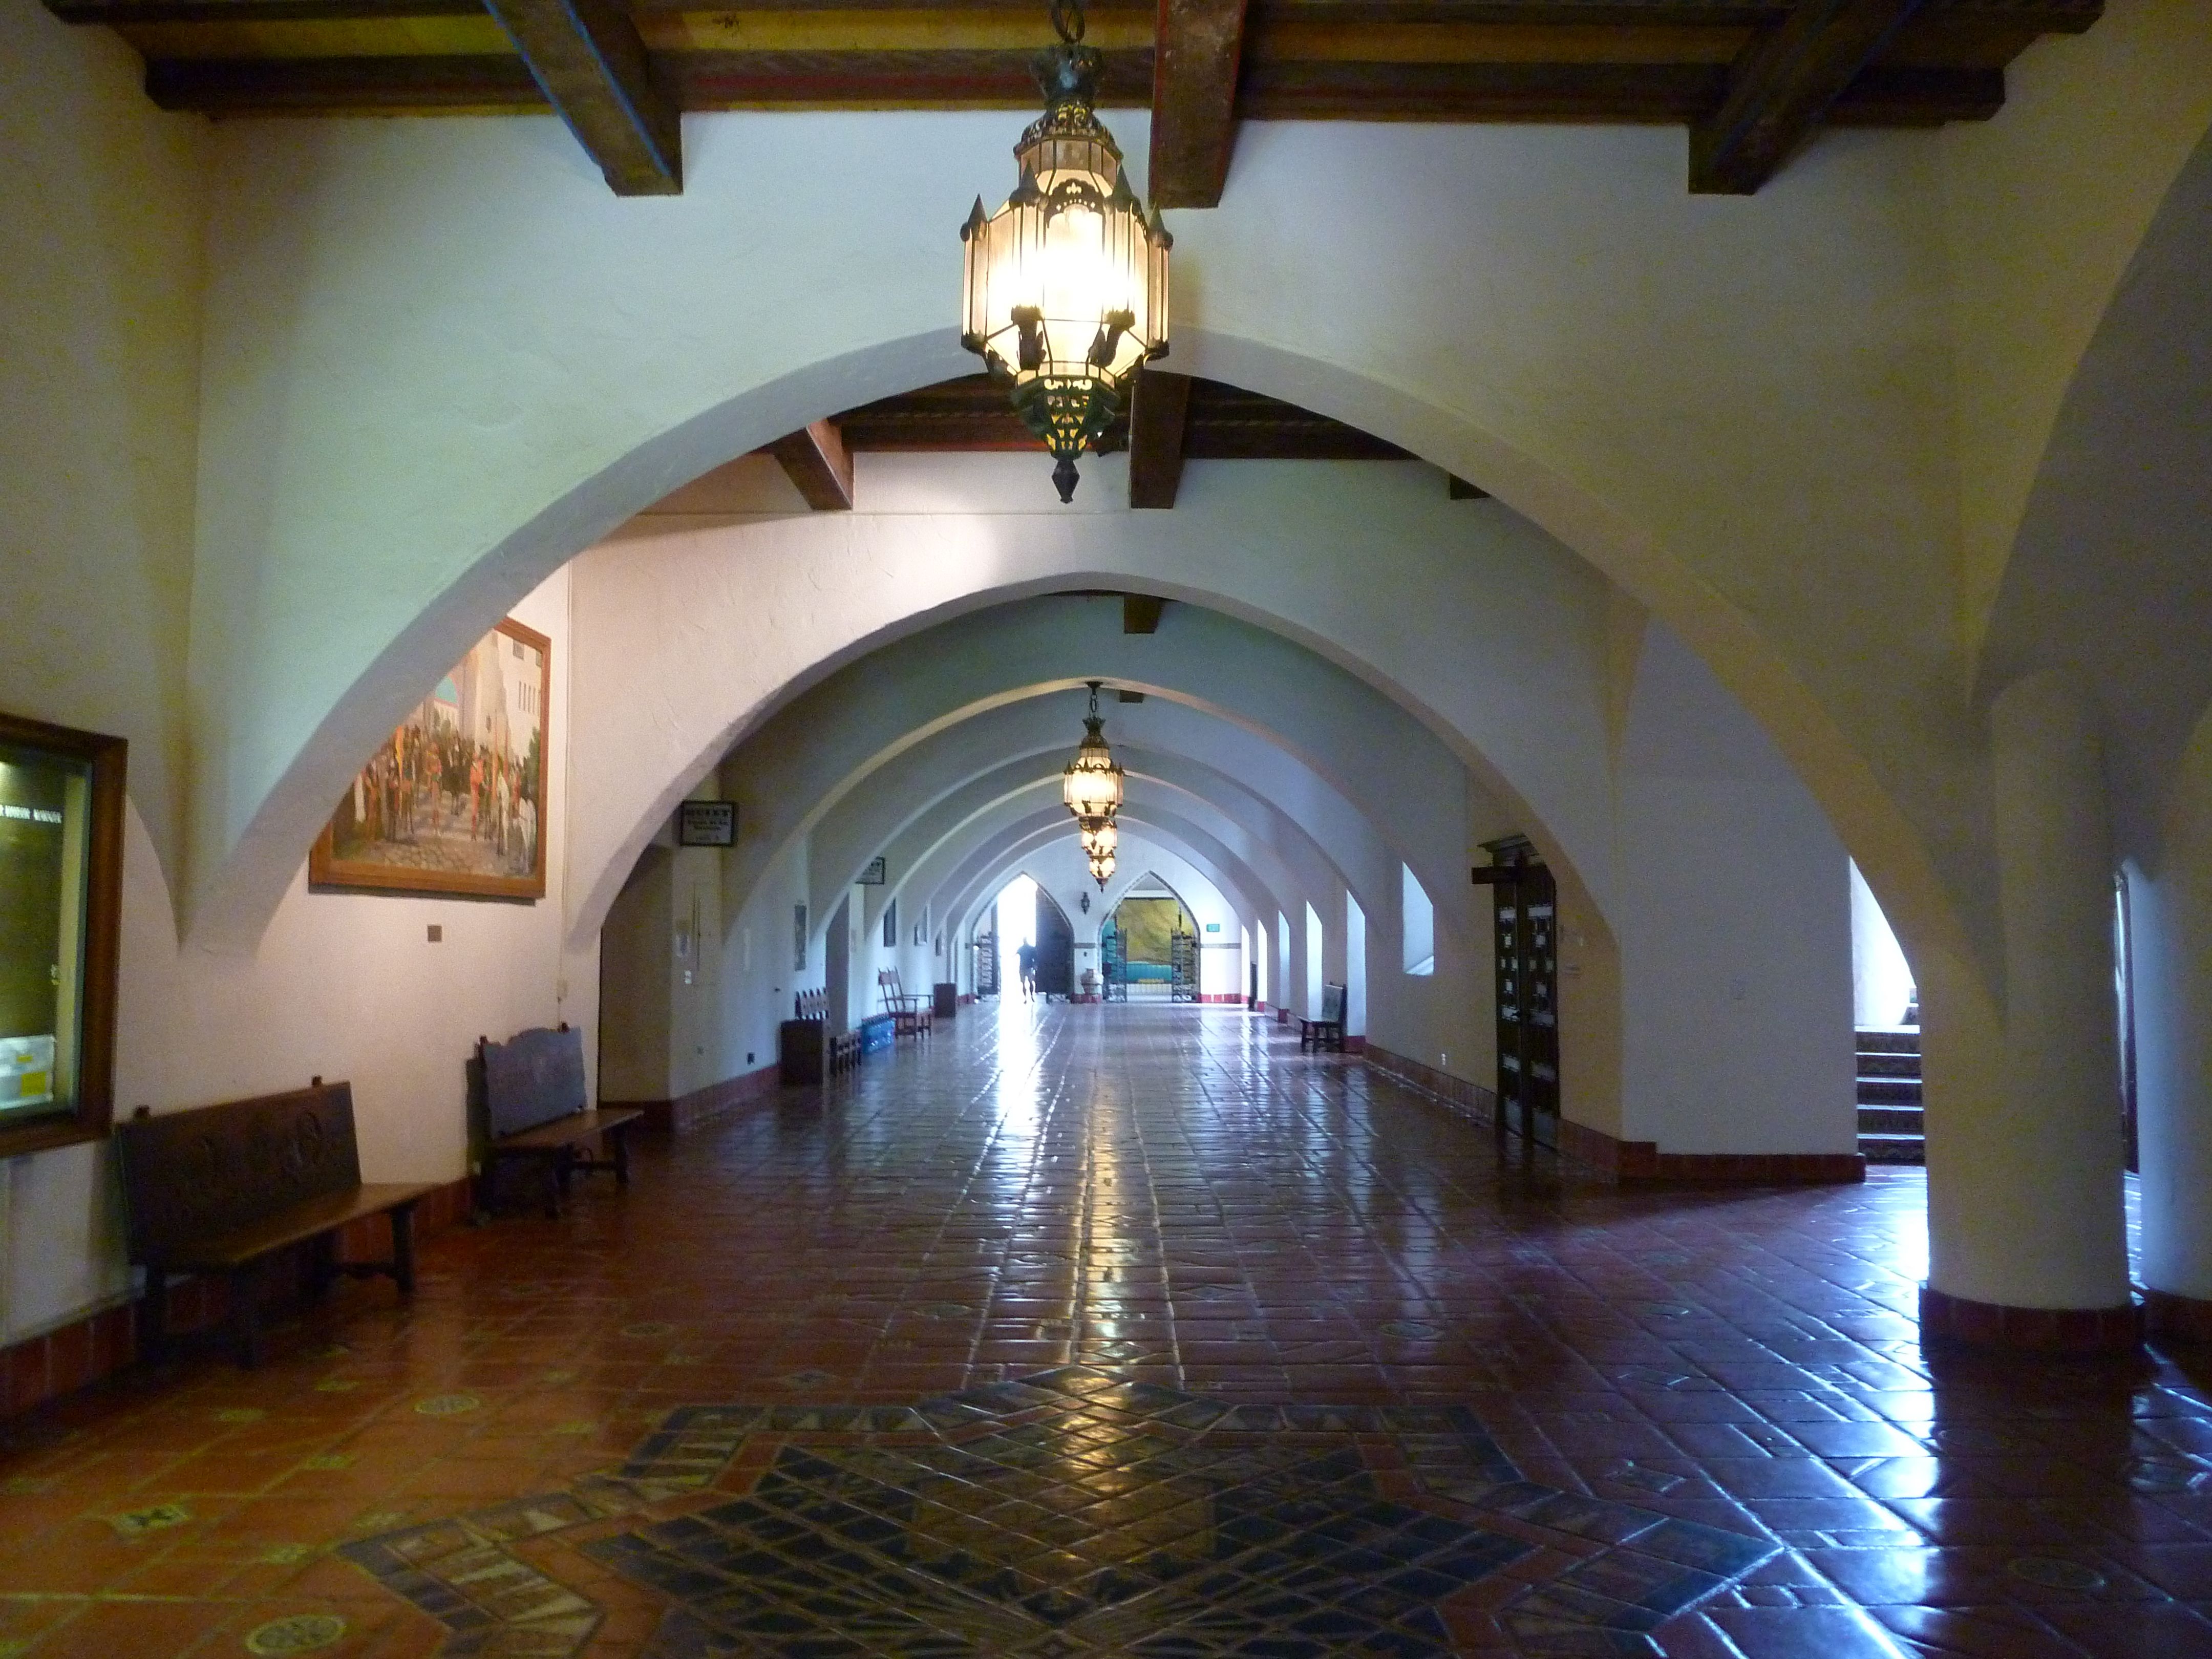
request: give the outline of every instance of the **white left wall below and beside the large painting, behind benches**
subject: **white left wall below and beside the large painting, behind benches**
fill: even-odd
[[[301,1088],[354,1086],[369,1181],[467,1172],[465,1066],[478,1037],[568,1020],[597,1051],[597,945],[562,949],[566,852],[568,582],[513,613],[553,641],[546,898],[531,905],[307,891],[305,858],[250,958],[181,949],[142,814],[124,841],[117,1115]],[[436,925],[445,938],[429,942]],[[4,1338],[122,1296],[122,1210],[108,1146],[33,1152],[4,1168]]]

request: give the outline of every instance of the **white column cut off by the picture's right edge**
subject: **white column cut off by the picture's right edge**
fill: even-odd
[[[2212,1340],[2212,723],[2159,830],[2128,880],[2143,1290],[2154,1334]]]

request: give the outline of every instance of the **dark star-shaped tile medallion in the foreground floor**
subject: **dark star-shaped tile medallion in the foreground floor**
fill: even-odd
[[[1467,1407],[1086,1367],[916,1407],[684,1407],[619,1473],[343,1553],[447,1655],[562,1659],[599,1610],[515,1546],[568,1531],[666,1601],[648,1659],[1427,1659],[1458,1599],[1528,1652],[1657,1652],[1644,1632],[1776,1553],[1526,1482]]]

